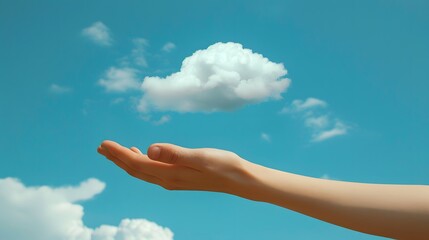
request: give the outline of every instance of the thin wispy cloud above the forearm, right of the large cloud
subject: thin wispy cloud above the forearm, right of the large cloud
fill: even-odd
[[[349,127],[340,119],[333,119],[326,113],[328,104],[317,98],[306,100],[296,99],[280,110],[281,114],[298,115],[304,120],[304,125],[312,131],[312,142],[321,142],[327,139],[345,135]]]

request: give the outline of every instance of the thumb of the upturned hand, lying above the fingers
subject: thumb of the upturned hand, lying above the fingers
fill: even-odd
[[[180,147],[169,143],[155,143],[147,150],[148,157],[152,160],[169,164],[189,165],[195,159],[195,150]]]

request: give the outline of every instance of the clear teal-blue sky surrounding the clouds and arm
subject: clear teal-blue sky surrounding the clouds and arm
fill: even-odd
[[[96,148],[104,139],[141,149],[171,142],[313,177],[429,184],[428,10],[417,0],[0,0],[0,178],[52,189],[98,179],[89,182],[94,196],[76,203],[93,229],[130,218],[168,227],[177,240],[377,239],[225,194],[165,191]],[[282,99],[210,113],[149,99],[155,107],[138,109],[148,92],[133,80],[179,72],[219,42],[284,64],[291,85]],[[112,68],[135,74],[121,78],[122,92],[100,84]],[[317,101],[303,109],[309,99]],[[308,122],[319,117],[327,125]],[[315,140],[336,123],[340,134]]]

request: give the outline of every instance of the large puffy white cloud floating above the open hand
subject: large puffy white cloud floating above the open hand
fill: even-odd
[[[146,77],[139,110],[229,111],[246,104],[281,99],[290,80],[273,63],[238,43],[216,43],[185,58],[179,72]]]

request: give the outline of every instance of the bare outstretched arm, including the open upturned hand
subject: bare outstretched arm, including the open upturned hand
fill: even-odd
[[[363,233],[429,238],[429,186],[311,178],[257,165],[229,151],[167,143],[151,145],[147,155],[113,141],[97,150],[131,176],[168,190],[229,193]]]

